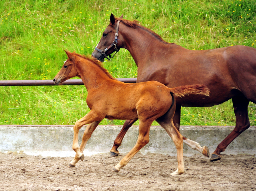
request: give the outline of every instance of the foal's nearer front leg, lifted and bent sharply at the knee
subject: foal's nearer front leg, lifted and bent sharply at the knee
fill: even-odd
[[[84,159],[84,154],[79,149],[79,144],[78,144],[79,130],[81,129],[81,127],[83,125],[92,123],[94,121],[100,121],[102,119],[104,119],[104,117],[99,116],[97,113],[95,113],[94,111],[91,110],[84,117],[82,117],[82,119],[79,119],[78,121],[76,121],[76,123],[74,125],[74,138],[73,138],[72,149],[76,152],[76,155],[78,155],[78,158],[81,159],[82,161]]]

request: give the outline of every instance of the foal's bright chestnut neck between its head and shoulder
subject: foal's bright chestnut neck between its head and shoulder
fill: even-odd
[[[77,68],[78,77],[82,79],[88,93],[111,80],[96,64],[79,64]]]

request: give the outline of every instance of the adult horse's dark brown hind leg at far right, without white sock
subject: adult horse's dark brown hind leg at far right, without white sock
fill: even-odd
[[[212,153],[210,161],[217,161],[221,159],[220,153],[225,151],[226,147],[250,127],[250,121],[248,118],[248,104],[249,100],[244,96],[237,96],[232,98],[234,112],[236,115],[236,127],[234,130],[218,145],[216,150]]]

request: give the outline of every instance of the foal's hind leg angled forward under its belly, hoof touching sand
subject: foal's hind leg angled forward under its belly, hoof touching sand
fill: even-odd
[[[140,121],[139,125],[139,136],[136,145],[132,150],[114,167],[113,171],[118,172],[124,167],[132,157],[138,153],[138,151],[149,142],[149,129],[152,124],[152,120]]]

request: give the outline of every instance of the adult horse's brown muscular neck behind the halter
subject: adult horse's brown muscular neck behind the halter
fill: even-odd
[[[168,52],[170,48],[170,44],[160,40],[151,31],[147,31],[143,27],[133,29],[124,26],[122,36],[126,40],[124,48],[130,52],[138,67],[139,64],[150,64],[150,60],[155,60],[156,56],[159,58],[165,55],[165,52]]]

